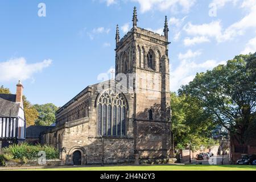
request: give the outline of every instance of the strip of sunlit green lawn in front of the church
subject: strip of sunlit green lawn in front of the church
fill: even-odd
[[[25,169],[26,170],[26,169]],[[256,166],[204,166],[204,165],[152,165],[152,166],[106,166],[64,167],[27,169],[35,171],[256,171]]]

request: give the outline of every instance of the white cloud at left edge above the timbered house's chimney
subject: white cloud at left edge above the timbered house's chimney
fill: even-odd
[[[10,59],[0,63],[0,81],[17,81],[33,78],[34,73],[41,72],[51,65],[52,60],[43,60],[40,63],[28,64],[24,57]]]

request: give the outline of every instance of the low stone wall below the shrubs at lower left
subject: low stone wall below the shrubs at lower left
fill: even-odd
[[[38,163],[38,160],[28,160],[26,164],[22,160],[9,160],[5,162],[6,167],[21,167],[21,166],[63,166],[64,163],[60,159],[46,160],[46,164]]]

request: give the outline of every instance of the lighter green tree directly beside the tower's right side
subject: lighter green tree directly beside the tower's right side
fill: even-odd
[[[189,97],[171,93],[172,132],[174,133],[175,146],[184,149],[191,145],[192,151],[214,145],[212,139],[215,125],[212,117],[204,113],[203,107],[193,102]]]

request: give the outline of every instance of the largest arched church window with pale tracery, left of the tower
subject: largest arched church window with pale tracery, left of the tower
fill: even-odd
[[[127,104],[123,94],[111,89],[98,98],[98,135],[125,136]]]

